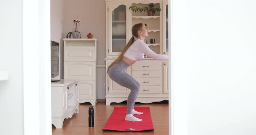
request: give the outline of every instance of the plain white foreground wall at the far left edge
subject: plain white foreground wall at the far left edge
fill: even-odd
[[[1,0],[0,13],[0,71],[9,72],[0,81],[0,134],[23,135],[22,0]]]

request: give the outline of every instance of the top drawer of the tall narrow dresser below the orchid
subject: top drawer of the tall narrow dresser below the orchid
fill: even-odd
[[[93,42],[69,41],[64,45],[64,61],[95,61],[95,46]]]

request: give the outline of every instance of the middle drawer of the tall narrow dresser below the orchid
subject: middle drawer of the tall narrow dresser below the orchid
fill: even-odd
[[[95,80],[95,67],[93,61],[64,61],[64,78]]]

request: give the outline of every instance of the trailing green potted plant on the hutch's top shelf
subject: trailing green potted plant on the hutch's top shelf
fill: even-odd
[[[129,10],[133,12],[144,12],[148,11],[148,16],[153,16],[154,13],[160,12],[161,8],[160,6],[154,7],[154,4],[150,4],[148,7],[137,7],[137,6],[130,6]]]

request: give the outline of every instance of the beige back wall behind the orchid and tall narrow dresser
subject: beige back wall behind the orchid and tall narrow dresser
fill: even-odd
[[[73,20],[80,19],[79,32],[82,38],[87,38],[91,32],[97,39],[97,65],[105,65],[106,58],[106,12],[105,0],[63,0],[63,32],[66,38],[68,32],[73,31]],[[63,59],[62,59],[63,60]],[[106,75],[105,67],[97,67],[97,98],[105,99]]]

